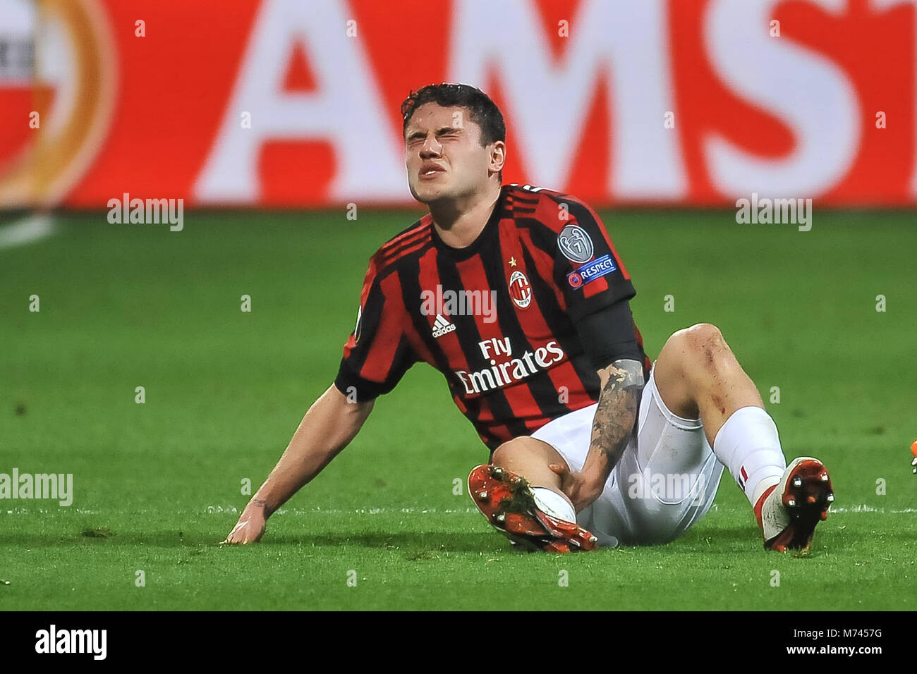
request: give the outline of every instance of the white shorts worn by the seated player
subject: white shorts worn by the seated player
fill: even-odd
[[[560,416],[532,437],[557,449],[570,470],[582,470],[597,406]],[[624,449],[602,495],[577,515],[577,523],[602,546],[668,543],[710,510],[723,468],[701,420],[672,414],[650,370],[636,438]]]

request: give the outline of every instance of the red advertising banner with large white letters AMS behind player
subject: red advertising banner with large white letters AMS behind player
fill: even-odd
[[[917,203],[914,0],[0,1],[0,206],[409,204],[399,106],[491,94],[505,182]]]

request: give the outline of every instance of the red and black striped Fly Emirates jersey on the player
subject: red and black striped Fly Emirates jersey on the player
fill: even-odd
[[[367,400],[392,391],[414,363],[429,363],[494,449],[598,402],[599,377],[576,323],[635,294],[588,205],[503,185],[470,246],[445,244],[425,215],[372,256],[335,384]]]

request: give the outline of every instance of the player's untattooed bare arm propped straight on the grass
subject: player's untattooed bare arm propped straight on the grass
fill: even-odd
[[[283,503],[312,481],[347,447],[372,411],[373,401],[348,402],[332,385],[305,413],[281,459],[251,497],[224,543],[254,543]]]

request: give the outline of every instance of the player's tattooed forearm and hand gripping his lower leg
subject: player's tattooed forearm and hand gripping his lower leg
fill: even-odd
[[[599,403],[592,422],[589,453],[580,473],[564,466],[552,470],[561,476],[561,486],[577,512],[602,493],[634,432],[637,409],[643,392],[643,365],[637,360],[615,360],[598,370],[602,381]]]

